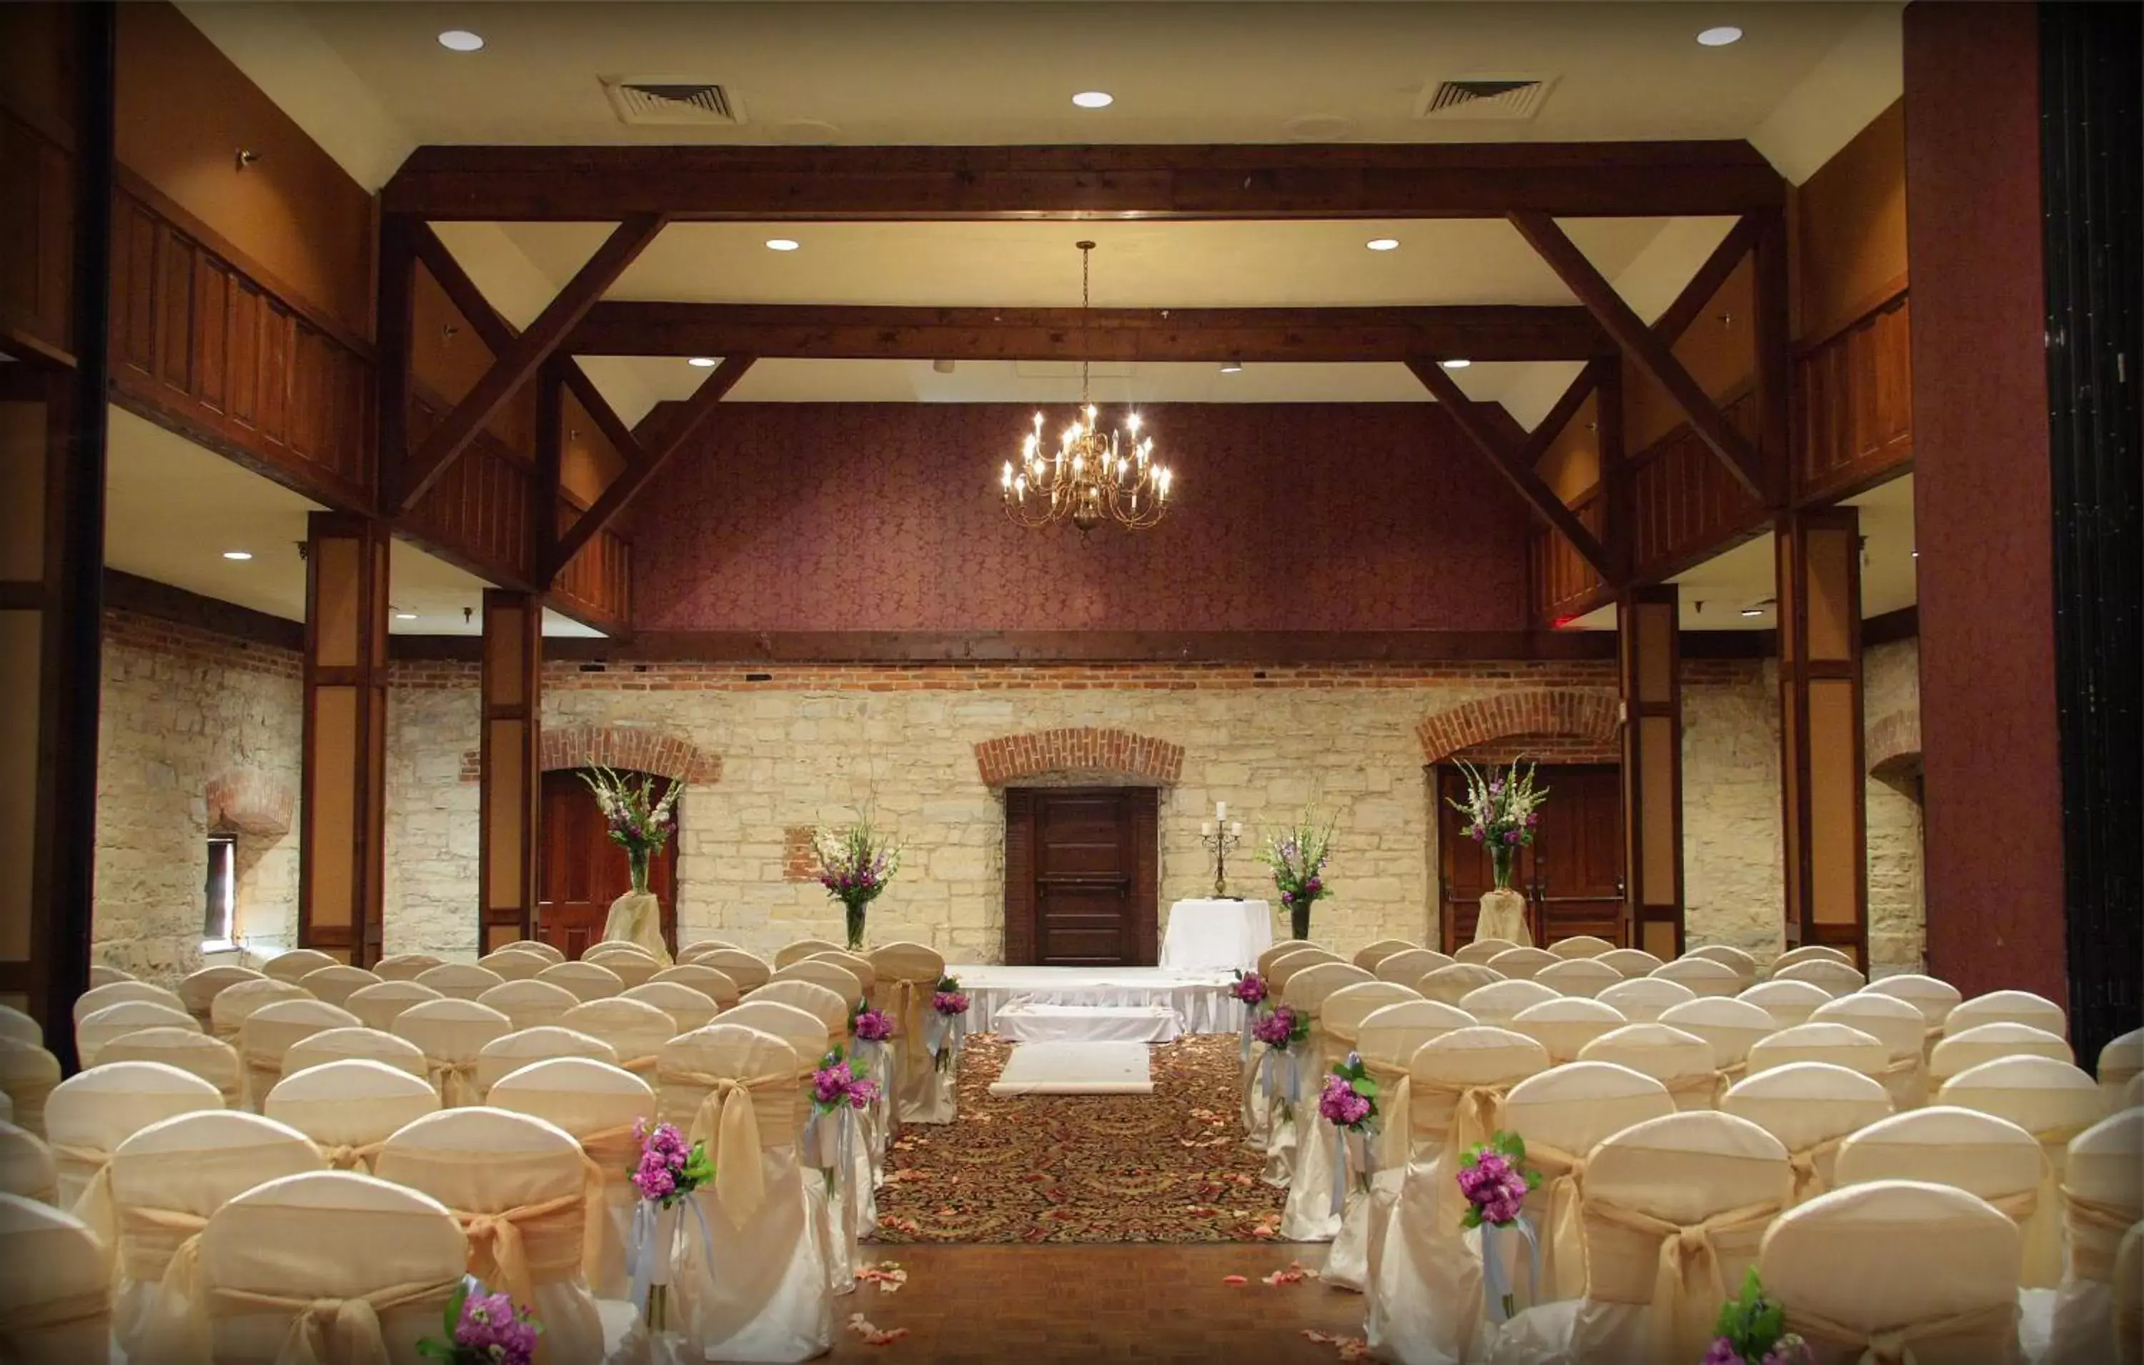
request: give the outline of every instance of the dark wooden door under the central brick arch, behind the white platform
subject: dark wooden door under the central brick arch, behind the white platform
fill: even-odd
[[[1151,966],[1158,921],[1151,786],[1006,793],[1006,960]]]

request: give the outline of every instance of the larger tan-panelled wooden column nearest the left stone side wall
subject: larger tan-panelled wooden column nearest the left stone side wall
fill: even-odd
[[[386,523],[313,512],[304,570],[298,945],[369,966],[386,866]]]

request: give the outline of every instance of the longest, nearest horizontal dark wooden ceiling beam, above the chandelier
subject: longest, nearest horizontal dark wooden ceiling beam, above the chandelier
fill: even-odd
[[[422,146],[382,212],[474,221],[1497,219],[1786,201],[1747,141]]]

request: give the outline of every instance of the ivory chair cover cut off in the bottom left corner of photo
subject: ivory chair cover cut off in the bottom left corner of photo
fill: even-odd
[[[79,1365],[109,1352],[109,1279],[96,1234],[71,1213],[0,1194],[0,1359]]]

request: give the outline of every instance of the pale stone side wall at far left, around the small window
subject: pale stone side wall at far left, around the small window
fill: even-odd
[[[152,979],[199,964],[208,834],[238,836],[238,934],[298,928],[300,660],[129,611],[105,615],[96,958]]]

